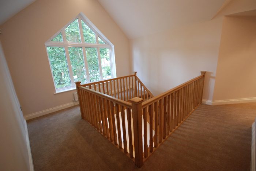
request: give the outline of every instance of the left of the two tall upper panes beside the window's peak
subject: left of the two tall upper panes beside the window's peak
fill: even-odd
[[[67,28],[65,28],[65,34],[67,42],[81,42],[78,19],[71,23]]]

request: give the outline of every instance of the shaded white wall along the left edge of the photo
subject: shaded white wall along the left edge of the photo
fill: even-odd
[[[20,110],[1,42],[0,80],[0,170],[34,170],[27,124]]]

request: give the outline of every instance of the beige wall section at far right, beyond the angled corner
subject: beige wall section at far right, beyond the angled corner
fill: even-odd
[[[214,100],[256,97],[256,16],[224,17]]]

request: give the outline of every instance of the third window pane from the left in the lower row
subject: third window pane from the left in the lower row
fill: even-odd
[[[90,81],[98,81],[100,80],[99,76],[99,62],[98,62],[98,54],[97,48],[86,47],[86,58],[88,63]]]

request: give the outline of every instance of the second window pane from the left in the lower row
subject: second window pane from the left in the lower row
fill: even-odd
[[[82,47],[69,47],[68,52],[74,81],[81,81],[82,83],[87,82]]]

